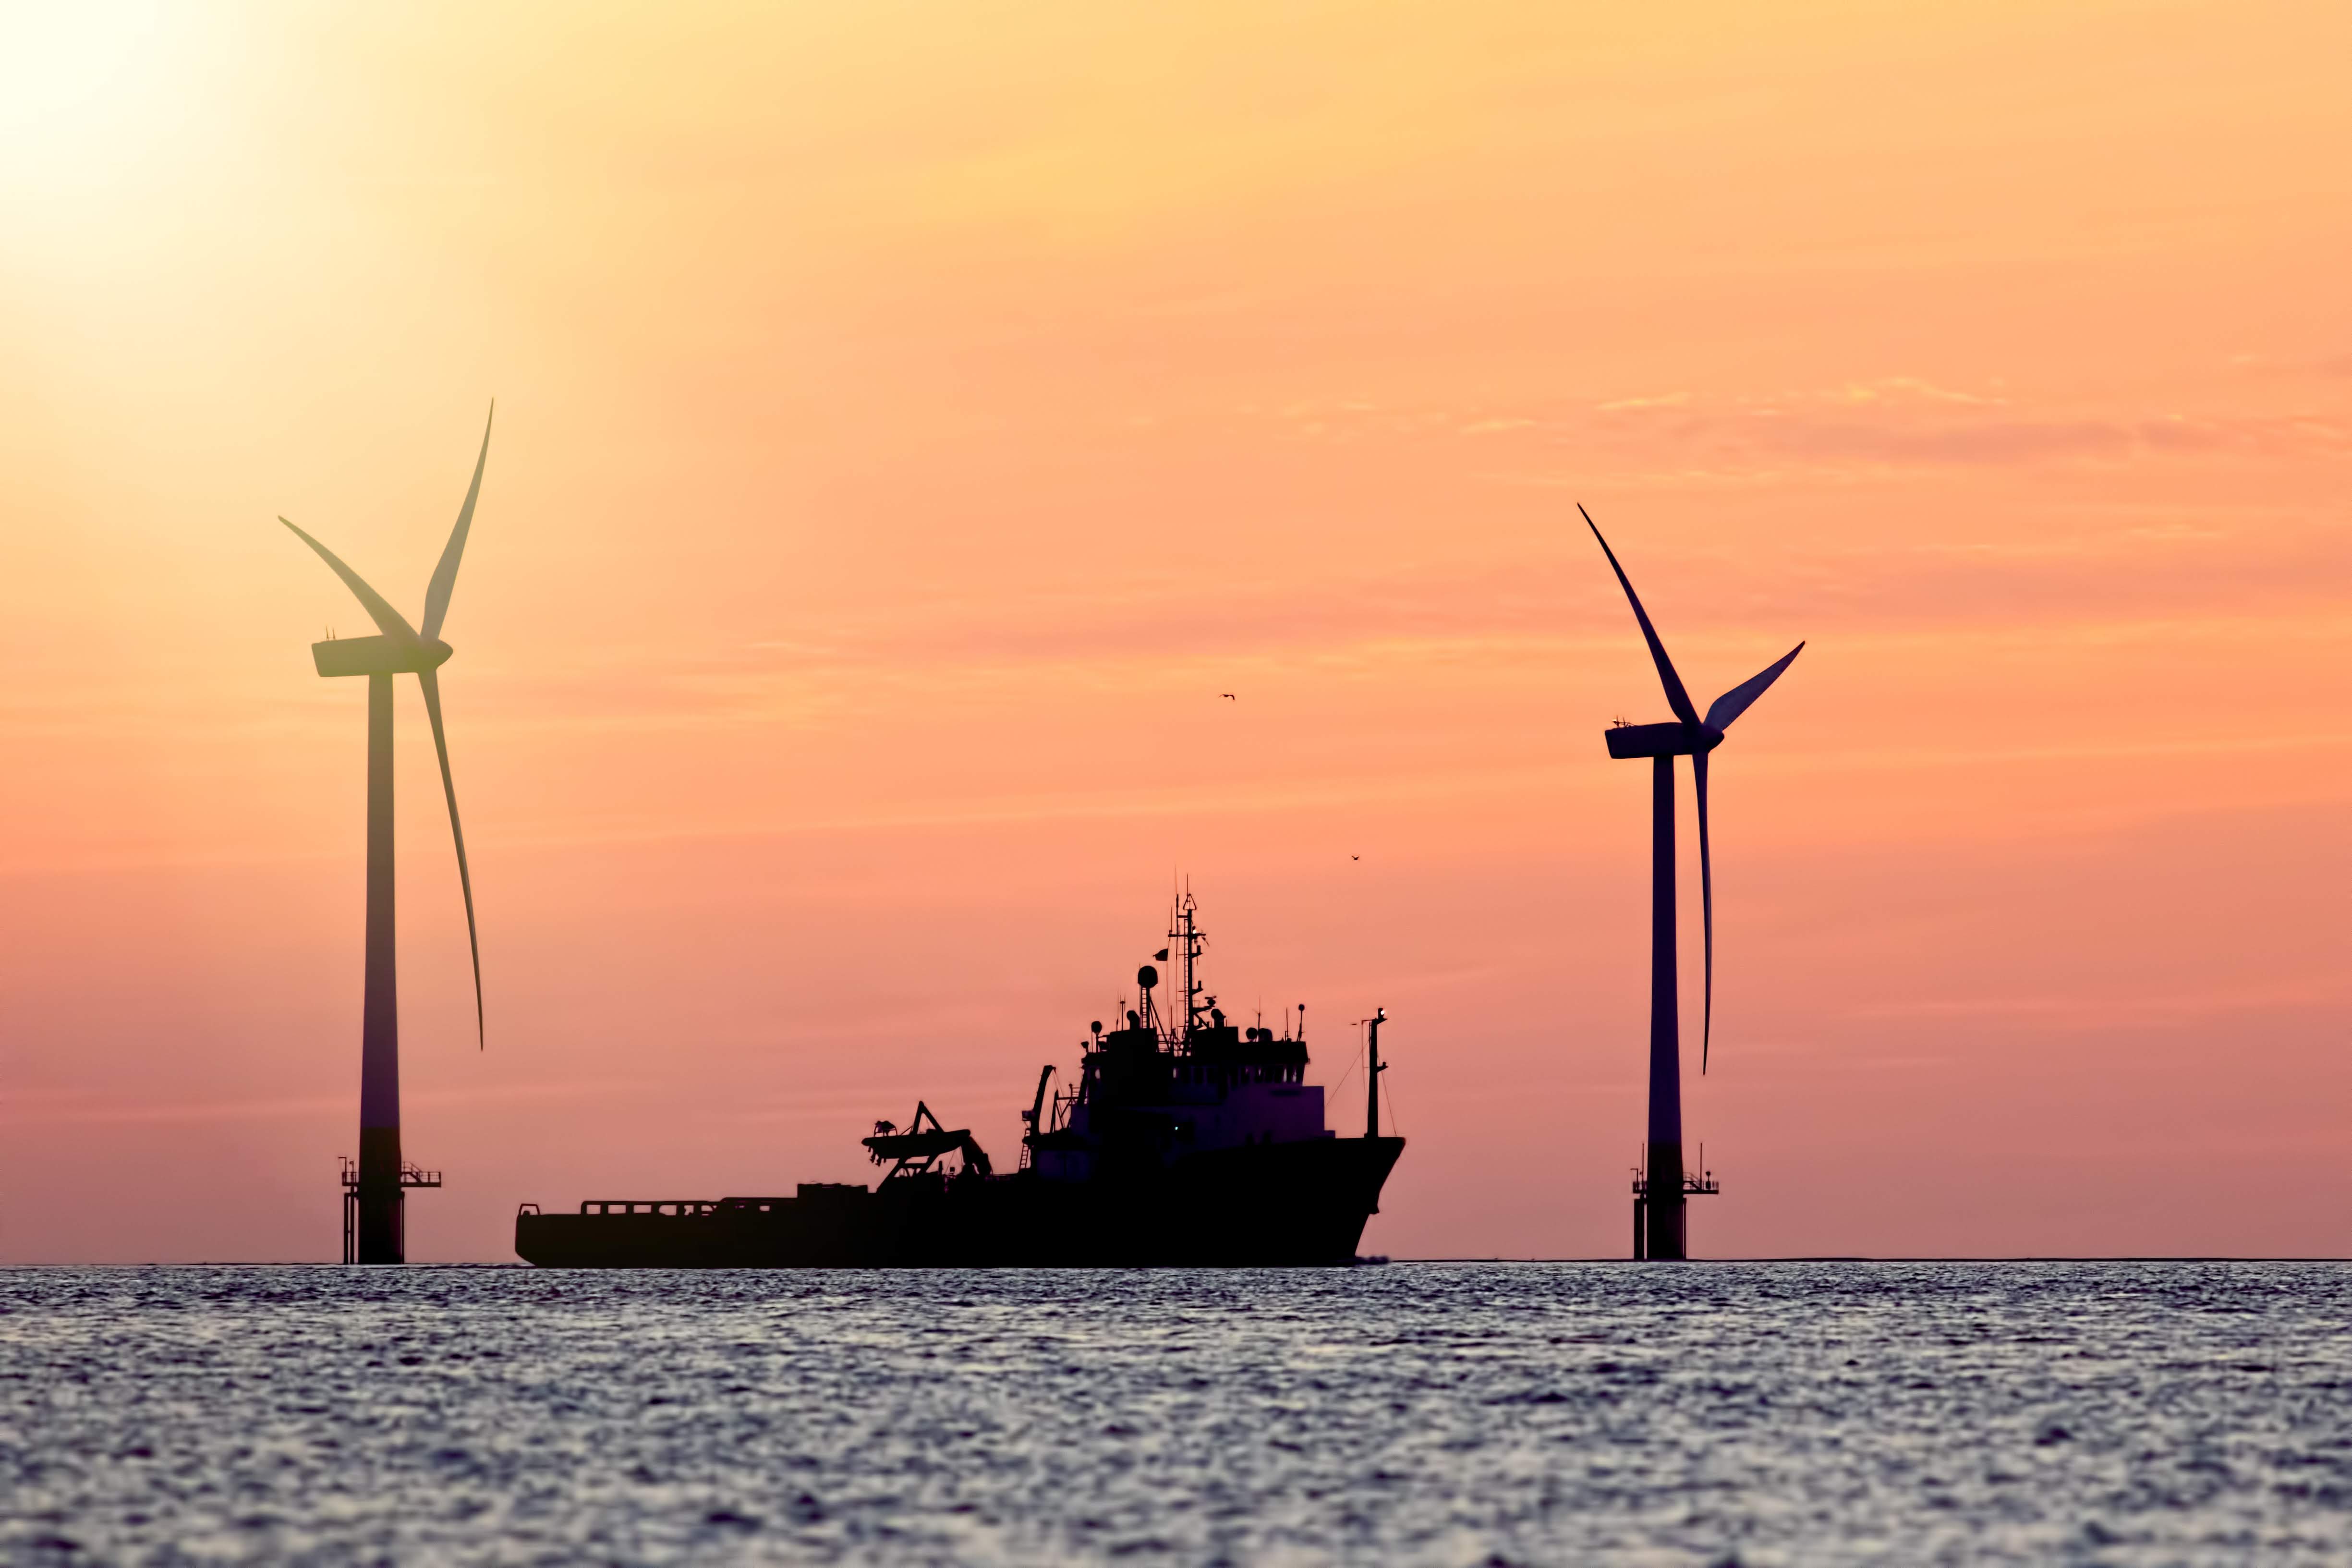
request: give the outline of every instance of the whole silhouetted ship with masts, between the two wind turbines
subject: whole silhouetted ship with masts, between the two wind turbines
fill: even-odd
[[[1197,980],[1192,898],[1171,945],[1183,1001],[1162,1016],[1157,969],[1136,973],[1127,1027],[1084,1041],[1077,1084],[1021,1112],[1021,1166],[997,1175],[964,1128],[917,1103],[906,1128],[877,1121],[866,1150],[889,1164],[868,1190],[804,1182],[793,1197],[590,1199],[579,1213],[515,1215],[515,1253],[543,1267],[1134,1267],[1338,1265],[1378,1213],[1402,1138],[1381,1135],[1371,1023],[1362,1138],[1324,1126],[1296,1032],[1225,1023]],[[950,1164],[953,1157],[953,1164]]]

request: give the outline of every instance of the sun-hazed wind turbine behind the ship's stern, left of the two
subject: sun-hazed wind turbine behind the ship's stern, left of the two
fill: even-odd
[[[496,416],[492,404],[492,416]],[[449,835],[456,839],[456,884],[466,893],[466,943],[473,947],[473,1027],[475,1044],[487,1041],[482,1023],[482,940],[473,924],[473,875],[466,870],[466,830],[456,820],[456,783],[449,778],[449,738],[440,717],[440,668],[449,663],[449,644],[440,639],[456,588],[456,564],[466,555],[466,531],[473,527],[473,503],[482,494],[482,463],[489,461],[489,421],[482,421],[482,454],[473,461],[473,484],[456,512],[449,543],[442,548],[433,581],[426,585],[423,628],[409,625],[383,595],[360,581],[334,550],[280,517],[294,536],[334,567],[343,585],[367,607],[376,637],[329,637],[310,644],[310,661],[325,677],[367,677],[367,997],[360,1009],[360,1168],[343,1178],[343,1262],[402,1262],[407,1237],[402,1225],[405,1187],[440,1187],[437,1171],[416,1171],[400,1161],[400,987],[393,964],[393,677],[414,675],[426,693],[426,719],[433,722],[433,750],[440,752],[442,792],[449,797]],[[348,1168],[346,1168],[348,1171]],[[353,1211],[358,1211],[353,1215]],[[358,1220],[358,1222],[353,1222]]]

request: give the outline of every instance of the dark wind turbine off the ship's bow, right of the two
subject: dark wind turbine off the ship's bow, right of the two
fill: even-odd
[[[1635,1201],[1632,1201],[1632,1255],[1635,1258],[1686,1258],[1689,1255],[1689,1232],[1684,1225],[1684,1199],[1693,1194],[1715,1192],[1715,1178],[1700,1171],[1696,1178],[1684,1175],[1682,1166],[1682,1020],[1675,999],[1675,757],[1691,759],[1691,778],[1698,783],[1698,896],[1703,910],[1703,924],[1708,933],[1708,1001],[1705,1020],[1698,1034],[1698,1070],[1708,1070],[1708,1046],[1715,1034],[1715,865],[1708,858],[1708,752],[1724,743],[1724,731],[1731,729],[1731,719],[1748,712],[1748,708],[1764,696],[1764,689],[1780,679],[1780,670],[1788,670],[1797,654],[1804,654],[1799,642],[1778,661],[1766,665],[1759,675],[1750,675],[1731,691],[1715,698],[1708,708],[1708,717],[1698,717],[1691,705],[1691,693],[1682,689],[1682,677],[1675,675],[1675,661],[1665,656],[1665,644],[1658,642],[1658,628],[1649,623],[1649,614],[1642,609],[1639,595],[1632,590],[1632,581],[1625,569],[1618,567],[1616,550],[1602,538],[1602,529],[1592,522],[1592,512],[1583,505],[1576,508],[1585,527],[1592,529],[1592,538],[1599,538],[1602,555],[1609,557],[1609,569],[1618,574],[1618,583],[1625,588],[1625,602],[1632,604],[1632,618],[1642,625],[1642,639],[1649,644],[1649,656],[1658,665],[1658,682],[1665,686],[1665,703],[1675,710],[1668,724],[1613,724],[1602,731],[1609,743],[1609,755],[1618,762],[1630,757],[1651,759],[1651,785],[1649,785],[1649,1147],[1644,1154],[1644,1173],[1635,1178]]]

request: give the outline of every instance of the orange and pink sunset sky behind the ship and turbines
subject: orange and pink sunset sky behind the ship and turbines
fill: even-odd
[[[2352,7],[0,19],[0,1260],[336,1255],[369,628],[275,515],[414,616],[492,397],[412,1258],[1011,1164],[1176,875],[1350,1133],[1388,1006],[1367,1251],[1623,1255],[1576,501],[1700,705],[1809,639],[1696,1253],[2352,1251]]]

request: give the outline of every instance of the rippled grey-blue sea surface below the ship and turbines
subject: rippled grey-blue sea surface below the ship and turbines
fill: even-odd
[[[0,1561],[2352,1561],[2345,1265],[0,1272]]]

